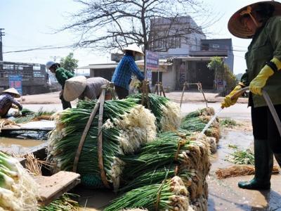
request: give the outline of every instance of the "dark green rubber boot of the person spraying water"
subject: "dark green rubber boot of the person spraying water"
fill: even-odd
[[[270,189],[273,169],[273,153],[267,140],[254,139],[255,177],[251,181],[240,181],[238,186],[250,190]]]

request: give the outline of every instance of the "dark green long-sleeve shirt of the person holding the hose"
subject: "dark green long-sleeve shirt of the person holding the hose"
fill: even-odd
[[[241,82],[249,86],[249,83],[259,74],[266,62],[273,57],[281,60],[281,16],[270,18],[266,25],[254,35],[245,54],[247,70],[242,75]],[[270,76],[263,89],[268,92],[274,105],[281,104],[281,71],[277,71]],[[249,101],[249,106],[267,106],[263,96],[253,94],[250,95],[250,98],[252,98],[252,101]],[[251,105],[251,102],[254,105]]]

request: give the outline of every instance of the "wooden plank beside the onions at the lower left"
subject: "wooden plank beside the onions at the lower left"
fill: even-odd
[[[39,184],[39,204],[48,205],[63,193],[80,183],[80,174],[74,172],[60,171],[51,177],[37,176],[34,177]]]

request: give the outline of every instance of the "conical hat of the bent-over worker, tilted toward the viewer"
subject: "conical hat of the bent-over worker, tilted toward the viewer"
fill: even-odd
[[[78,98],[87,85],[87,79],[84,76],[77,76],[67,79],[63,88],[63,98],[65,101],[74,101]]]

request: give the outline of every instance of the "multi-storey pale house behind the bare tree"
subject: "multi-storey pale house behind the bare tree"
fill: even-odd
[[[158,52],[160,59],[173,61],[166,72],[160,73],[164,87],[177,90],[182,89],[184,82],[201,82],[203,88],[212,89],[214,71],[207,68],[212,56],[221,56],[233,71],[231,39],[206,39],[202,28],[190,16],[157,18],[151,21],[151,27],[150,50]],[[152,73],[152,84],[155,77],[156,73]]]

